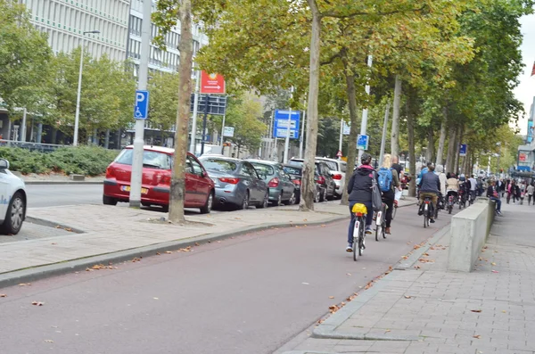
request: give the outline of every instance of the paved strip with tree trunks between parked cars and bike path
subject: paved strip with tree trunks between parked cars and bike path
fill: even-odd
[[[414,201],[407,198],[400,205],[411,203]],[[132,259],[142,254],[177,251],[196,242],[209,242],[266,228],[321,226],[349,217],[348,207],[338,201],[317,203],[315,208],[314,212],[300,212],[298,206],[287,206],[198,214],[186,216],[185,226],[161,221],[167,214],[150,210],[104,205],[33,208],[29,210],[29,220],[61,226],[71,232],[68,235],[0,243],[0,287],[18,276],[15,271],[20,269],[33,268],[25,270],[25,276],[44,277],[70,268],[70,264],[63,262],[73,259],[91,262],[90,258],[101,256],[93,264],[117,257]],[[52,268],[42,268],[54,264]],[[79,267],[81,264],[78,263]]]

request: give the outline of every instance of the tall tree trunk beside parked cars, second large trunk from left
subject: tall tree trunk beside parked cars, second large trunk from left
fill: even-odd
[[[317,146],[317,97],[319,95],[319,33],[321,18],[316,0],[308,0],[312,12],[312,33],[310,36],[310,73],[309,73],[309,107],[307,124],[307,146],[305,148],[305,163],[303,167],[300,210],[314,210],[314,169]]]

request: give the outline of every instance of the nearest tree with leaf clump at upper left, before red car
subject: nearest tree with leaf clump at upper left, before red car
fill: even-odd
[[[178,112],[175,134],[175,156],[169,194],[169,221],[184,223],[185,159],[187,157],[188,122],[192,95],[193,30],[191,0],[159,0],[153,21],[162,31],[156,41],[160,44],[171,27],[180,21],[180,63],[178,65]]]

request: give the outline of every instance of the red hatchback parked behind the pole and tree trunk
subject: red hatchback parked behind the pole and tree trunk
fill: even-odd
[[[169,191],[174,149],[160,146],[144,146],[141,203],[144,206],[160,205],[169,209]],[[128,202],[130,175],[134,147],[127,146],[106,169],[103,203],[116,205]],[[214,200],[214,182],[208,177],[202,163],[187,153],[185,173],[185,208],[200,208],[209,213]]]

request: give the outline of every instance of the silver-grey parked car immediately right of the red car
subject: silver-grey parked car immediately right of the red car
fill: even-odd
[[[223,156],[202,156],[200,160],[215,183],[217,205],[233,205],[239,209],[248,209],[250,205],[268,206],[268,185],[251,162]]]

